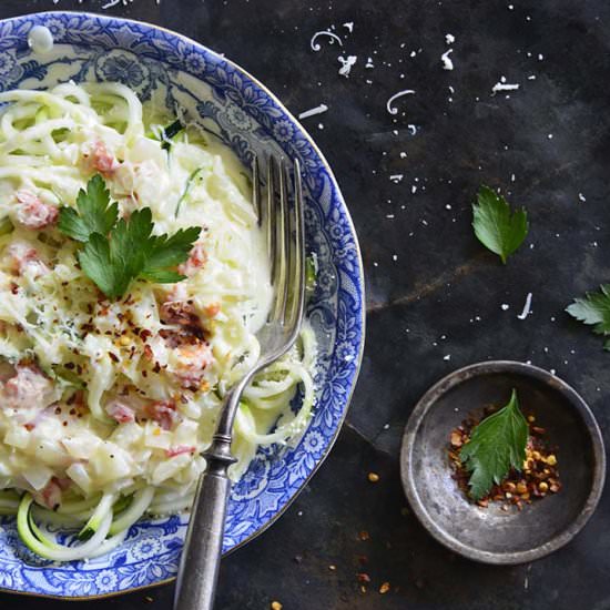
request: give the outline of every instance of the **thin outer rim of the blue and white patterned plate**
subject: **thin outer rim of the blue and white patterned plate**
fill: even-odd
[[[347,413],[349,410],[352,399],[354,397],[354,392],[356,389],[356,385],[358,382],[358,377],[362,369],[363,364],[363,357],[364,357],[364,347],[365,347],[365,339],[366,339],[366,282],[365,282],[365,273],[364,273],[364,265],[363,265],[363,256],[362,256],[362,250],[358,241],[358,235],[356,233],[356,228],[354,226],[354,221],[352,218],[352,214],[349,213],[349,209],[347,206],[347,203],[345,201],[345,197],[343,196],[343,193],[339,189],[338,182],[335,177],[335,174],[333,170],[331,169],[331,165],[328,161],[326,160],[325,155],[318,148],[318,145],[315,143],[312,135],[308,133],[308,131],[302,125],[302,123],[298,121],[298,119],[284,105],[284,103],[275,95],[264,83],[262,83],[256,77],[254,77],[251,72],[242,68],[238,63],[231,60],[230,58],[225,55],[221,55],[221,53],[214,51],[210,47],[205,45],[202,42],[199,42],[197,40],[194,40],[185,34],[182,34],[180,32],[176,32],[174,30],[171,30],[169,28],[164,28],[163,26],[157,26],[155,23],[151,23],[149,21],[143,21],[139,19],[131,19],[126,17],[121,16],[110,16],[110,14],[103,14],[95,11],[80,11],[80,10],[43,10],[43,11],[35,11],[35,12],[27,12],[23,14],[9,17],[6,19],[0,19],[0,23],[7,23],[10,21],[19,21],[22,19],[35,19],[41,18],[45,19],[52,16],[57,16],[59,18],[68,18],[70,16],[81,16],[81,17],[91,17],[94,19],[99,19],[102,21],[111,22],[111,21],[119,21],[123,23],[134,23],[138,26],[144,26],[145,28],[150,28],[151,30],[156,30],[164,32],[165,34],[169,34],[171,37],[175,37],[176,39],[181,39],[185,41],[189,44],[192,44],[194,47],[199,47],[205,53],[210,54],[214,61],[222,61],[231,65],[234,70],[241,72],[243,75],[245,75],[247,79],[250,79],[265,95],[267,95],[286,115],[286,118],[292,121],[295,126],[298,129],[298,131],[303,134],[303,136],[307,140],[308,144],[312,146],[312,150],[316,153],[318,156],[321,164],[324,166],[324,170],[326,172],[326,175],[328,176],[333,189],[335,190],[342,205],[342,212],[345,214],[345,221],[347,223],[347,226],[349,228],[350,235],[354,237],[354,245],[356,250],[356,263],[357,263],[357,276],[359,278],[359,289],[360,289],[360,307],[359,307],[359,322],[362,327],[362,334],[359,337],[359,342],[356,346],[357,353],[355,357],[355,369],[354,369],[354,376],[350,383],[350,387],[348,393],[345,397],[345,408],[343,410],[342,417],[337,423],[337,426],[333,433],[333,436],[328,439],[328,443],[324,449],[324,453],[319,456],[319,458],[316,460],[315,465],[312,468],[312,471],[307,475],[305,480],[299,485],[298,489],[295,491],[295,494],[286,501],[286,504],[275,514],[273,517],[268,519],[265,523],[263,523],[256,531],[251,533],[248,537],[241,540],[238,543],[236,543],[234,547],[228,549],[227,551],[223,552],[223,558],[227,557],[232,552],[236,551],[237,549],[244,547],[258,536],[261,536],[263,532],[265,532],[271,526],[273,526],[292,506],[292,504],[297,499],[297,497],[302,494],[302,491],[305,489],[305,487],[309,484],[313,476],[317,472],[318,468],[323,465],[323,462],[328,457],[331,450],[333,449],[335,443],[337,441],[337,438],[339,436],[339,433],[343,428],[343,425],[345,423],[345,419],[347,417]],[[205,81],[204,81],[205,82]],[[93,596],[84,596],[84,597],[69,597],[69,596],[54,596],[49,593],[39,593],[39,592],[29,592],[29,591],[18,591],[14,589],[6,589],[3,587],[0,587],[0,592],[3,593],[10,593],[14,596],[24,596],[24,597],[37,597],[37,598],[47,598],[47,599],[61,599],[64,601],[88,601],[88,600],[96,600],[96,599],[106,599],[111,597],[116,597],[121,594],[131,593],[134,591],[143,591],[146,589],[152,589],[155,587],[161,587],[163,584],[169,584],[175,580],[175,577],[159,580],[156,582],[150,583],[150,584],[143,584],[139,587],[133,587],[130,589],[125,589],[122,591],[110,591],[108,593],[102,594],[93,594]]]

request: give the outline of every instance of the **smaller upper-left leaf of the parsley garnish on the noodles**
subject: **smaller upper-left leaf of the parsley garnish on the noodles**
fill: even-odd
[[[101,175],[94,175],[77,197],[77,210],[62,207],[59,213],[59,230],[72,240],[87,242],[92,233],[108,235],[119,216],[116,203],[110,203],[110,192]]]

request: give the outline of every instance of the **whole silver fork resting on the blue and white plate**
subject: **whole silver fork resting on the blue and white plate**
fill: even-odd
[[[174,610],[211,610],[221,561],[226,505],[231,490],[228,467],[233,423],[242,393],[253,376],[283,356],[295,343],[305,308],[305,235],[301,167],[294,160],[294,212],[288,203],[288,169],[284,160],[268,159],[267,196],[263,205],[258,160],[252,166],[253,200],[258,224],[266,231],[271,261],[273,303],[266,324],[256,337],[261,356],[224,399],[216,433],[204,456],[201,476],[177,572]]]

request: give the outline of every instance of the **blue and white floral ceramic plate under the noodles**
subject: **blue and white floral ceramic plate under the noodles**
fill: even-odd
[[[47,27],[52,51],[33,53],[28,35]],[[268,527],[327,455],[345,417],[364,343],[364,279],[349,214],[328,164],[278,100],[231,61],[182,35],[144,23],[78,12],[0,21],[0,91],[48,89],[60,81],[121,81],[142,98],[165,100],[215,131],[248,166],[273,150],[301,161],[307,247],[319,275],[308,315],[319,342],[317,406],[294,448],[261,449],[228,506],[224,551]],[[186,518],[132,528],[124,545],[89,562],[58,565],[32,557],[14,522],[0,522],[0,589],[89,598],[157,584],[174,577]]]

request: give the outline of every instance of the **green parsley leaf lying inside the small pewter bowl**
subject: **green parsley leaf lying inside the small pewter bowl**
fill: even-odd
[[[474,428],[470,441],[462,446],[459,455],[470,472],[468,485],[475,500],[482,498],[494,484],[499,485],[511,467],[521,470],[528,430],[515,389],[506,407]]]

